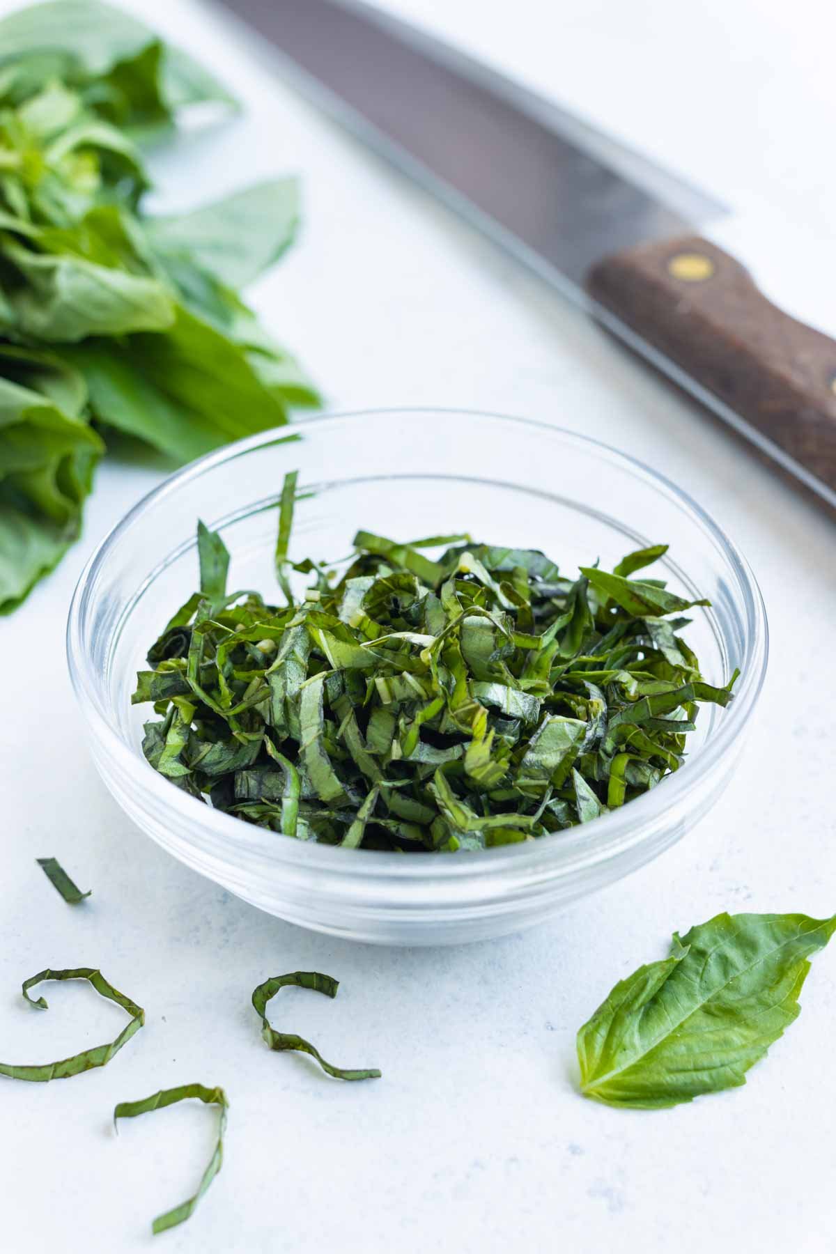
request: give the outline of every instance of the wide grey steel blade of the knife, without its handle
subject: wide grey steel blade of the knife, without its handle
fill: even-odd
[[[570,286],[603,256],[688,233],[723,212],[630,149],[368,5],[224,3],[303,71],[320,104]]]

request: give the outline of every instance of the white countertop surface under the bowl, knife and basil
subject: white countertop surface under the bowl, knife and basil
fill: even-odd
[[[390,3],[741,207],[722,238],[795,311],[836,322],[825,55],[836,21],[817,0]],[[377,949],[306,933],[163,854],[95,774],[66,676],[66,608],[86,556],[162,474],[104,464],[81,543],[0,619],[0,1057],[63,1057],[120,1031],[122,1012],[84,987],[46,988],[46,1016],[24,1006],[20,981],[46,966],[100,967],[145,1007],[147,1026],[104,1070],[66,1083],[0,1081],[3,1249],[831,1250],[836,952],[813,961],[801,1020],[747,1085],[691,1106],[644,1114],[585,1101],[574,1035],[619,977],[663,956],[674,928],[723,909],[836,908],[833,524],[297,100],[209,10],[134,8],[222,71],[249,109],[194,138],[182,168],[179,157],[159,167],[159,203],[303,173],[302,238],[251,295],[328,401],[508,411],[629,449],[745,549],[772,661],[728,793],[628,880],[491,944]],[[84,907],[59,900],[35,864],[44,855],[93,888]],[[340,996],[283,992],[273,1022],[310,1035],[336,1063],[380,1066],[382,1080],[340,1083],[263,1046],[252,988],[296,968],[336,976]],[[174,1107],[115,1139],[110,1112],[193,1080],[223,1085],[231,1101],[223,1171],[185,1225],[153,1239],[152,1218],[199,1179],[213,1114]]]

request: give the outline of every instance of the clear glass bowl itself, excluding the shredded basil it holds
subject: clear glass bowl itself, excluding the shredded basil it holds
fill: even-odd
[[[293,439],[288,443],[288,438]],[[355,530],[397,538],[468,530],[544,549],[565,572],[668,542],[653,573],[691,598],[706,678],[742,675],[727,710],[704,706],[686,765],[652,793],[570,831],[471,854],[348,850],[263,831],[173,788],[144,761],[134,672],[197,583],[198,518],[232,553],[231,588],[274,587],[276,500],[298,468],[291,556],[340,558]],[[203,875],[302,927],[381,944],[514,932],[656,858],[713,805],[737,760],[767,661],[761,593],[721,529],[667,479],[540,423],[452,410],[340,414],[242,440],[152,492],[88,563],[68,623],[73,685],[104,782],[143,831]]]

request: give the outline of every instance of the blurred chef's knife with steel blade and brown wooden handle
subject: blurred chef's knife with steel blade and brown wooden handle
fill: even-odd
[[[694,233],[708,197],[362,0],[224,3],[321,105],[836,508],[836,341]]]

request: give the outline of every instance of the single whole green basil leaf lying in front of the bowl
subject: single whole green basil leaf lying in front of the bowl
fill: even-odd
[[[671,954],[619,981],[578,1033],[580,1087],[657,1110],[746,1082],[800,1014],[810,954],[836,915],[718,914],[673,935]]]

